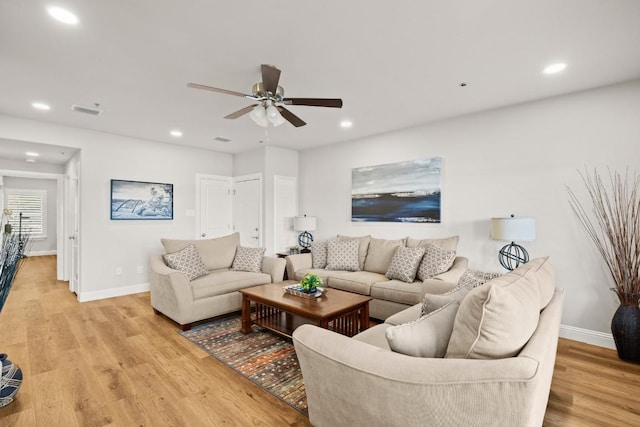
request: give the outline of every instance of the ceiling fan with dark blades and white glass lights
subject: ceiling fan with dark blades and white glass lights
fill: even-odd
[[[342,108],[340,98],[285,98],[284,89],[278,86],[280,70],[272,65],[262,64],[262,81],[253,85],[251,95],[235,92],[217,87],[205,86],[198,83],[188,83],[187,86],[194,89],[210,90],[212,92],[227,95],[241,96],[257,102],[244,107],[236,112],[224,116],[225,119],[237,119],[247,113],[258,125],[267,127],[269,123],[279,126],[287,120],[295,127],[304,126],[307,123],[300,117],[287,110],[285,105],[307,105],[311,107]]]

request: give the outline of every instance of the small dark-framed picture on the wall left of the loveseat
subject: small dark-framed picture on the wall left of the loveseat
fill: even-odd
[[[112,179],[111,219],[173,219],[173,184]]]

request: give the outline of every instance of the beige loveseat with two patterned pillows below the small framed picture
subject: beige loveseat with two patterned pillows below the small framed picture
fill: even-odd
[[[162,239],[162,244],[166,253],[195,245],[208,270],[189,281],[183,272],[170,268],[162,255],[150,257],[151,306],[182,330],[190,329],[193,322],[240,310],[240,289],[280,282],[284,275],[285,260],[268,256],[262,257],[260,271],[233,270],[239,233],[207,240]]]

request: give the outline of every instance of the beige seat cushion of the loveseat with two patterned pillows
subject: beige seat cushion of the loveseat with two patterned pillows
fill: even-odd
[[[223,269],[212,271],[189,284],[193,292],[193,299],[201,299],[224,295],[249,286],[263,285],[265,283],[271,283],[271,275],[267,273]]]

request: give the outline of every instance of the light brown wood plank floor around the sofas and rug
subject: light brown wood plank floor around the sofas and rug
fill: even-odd
[[[25,261],[0,314],[24,382],[0,426],[310,425],[182,338],[148,293],[81,304],[55,257]],[[561,339],[545,426],[590,425],[640,425],[640,365]]]

